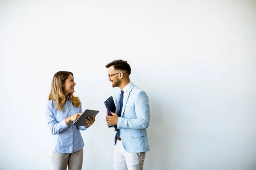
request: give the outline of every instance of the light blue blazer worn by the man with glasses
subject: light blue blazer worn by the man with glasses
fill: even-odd
[[[120,93],[116,94],[116,114],[119,112]],[[121,141],[129,153],[140,153],[149,150],[146,128],[149,125],[149,103],[147,94],[132,82],[123,100],[121,116],[117,128],[120,130]],[[115,135],[116,144],[116,135]]]

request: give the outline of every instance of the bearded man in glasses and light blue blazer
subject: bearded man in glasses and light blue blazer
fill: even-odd
[[[108,127],[117,125],[114,141],[114,170],[143,170],[145,152],[149,150],[147,130],[149,104],[147,94],[129,78],[130,65],[121,59],[106,65],[112,87],[119,87],[114,100],[116,113],[106,116]]]

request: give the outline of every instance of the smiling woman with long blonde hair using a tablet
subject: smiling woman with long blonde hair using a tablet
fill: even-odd
[[[46,118],[55,137],[51,156],[54,170],[66,170],[67,166],[69,170],[81,170],[84,142],[80,130],[95,121],[93,116],[85,119],[87,126],[73,126],[82,113],[79,97],[73,96],[75,85],[73,73],[68,71],[59,71],[52,79]]]

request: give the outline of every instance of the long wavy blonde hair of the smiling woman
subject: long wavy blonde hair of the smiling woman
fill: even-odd
[[[51,91],[49,94],[49,100],[54,100],[58,110],[63,111],[63,105],[66,101],[65,94],[63,92],[64,83],[69,75],[73,76],[73,73],[69,71],[58,71],[52,78]],[[74,77],[74,76],[73,76]],[[80,107],[81,101],[79,97],[73,96],[73,93],[69,94],[70,100],[75,107]]]

